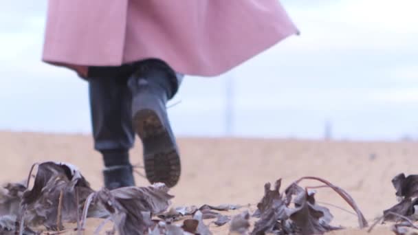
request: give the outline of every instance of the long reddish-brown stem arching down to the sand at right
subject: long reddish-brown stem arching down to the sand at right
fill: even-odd
[[[364,218],[363,213],[360,211],[360,208],[358,208],[358,205],[355,203],[354,199],[350,196],[348,192],[346,192],[345,190],[343,190],[342,188],[338,186],[333,185],[329,181],[319,178],[319,177],[302,177],[298,179],[297,181],[295,181],[294,183],[298,184],[300,183],[300,181],[303,181],[304,179],[312,179],[312,180],[320,181],[322,183],[325,183],[327,186],[329,186],[329,188],[332,188],[335,192],[337,192],[340,195],[340,197],[342,197],[342,199],[344,199],[344,201],[346,201],[351,206],[351,208],[353,208],[353,210],[358,216],[358,223],[359,223],[360,228],[364,228],[368,226],[368,223],[366,219]]]

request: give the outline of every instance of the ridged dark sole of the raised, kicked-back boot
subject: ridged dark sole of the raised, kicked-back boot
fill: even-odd
[[[133,117],[137,135],[144,148],[146,178],[150,183],[165,183],[172,188],[180,178],[180,157],[167,129],[151,109],[137,111]]]

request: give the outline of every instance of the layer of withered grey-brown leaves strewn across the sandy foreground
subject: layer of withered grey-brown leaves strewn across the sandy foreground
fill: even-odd
[[[32,175],[35,168],[36,174]],[[47,161],[34,164],[25,183],[8,183],[0,189],[0,233],[41,234],[47,231],[48,234],[58,234],[74,231],[83,234],[87,218],[102,219],[97,234],[109,221],[113,223],[113,231],[107,231],[107,234],[212,234],[203,222],[206,219],[214,219],[217,226],[229,224],[231,234],[307,235],[341,229],[330,225],[333,216],[328,208],[316,203],[313,188],[298,185],[304,179],[320,181],[324,185],[319,187],[333,189],[358,214],[360,227],[367,226],[362,212],[347,192],[316,177],[299,179],[283,193],[279,191],[280,179],[273,189],[270,183],[266,183],[264,196],[254,214],[245,211],[230,217],[219,211],[236,210],[240,208],[238,205],[169,208],[173,196],[162,183],[94,191],[74,166]],[[416,197],[418,185],[409,184],[417,179],[397,178],[395,188],[404,200],[390,212],[408,218],[415,215],[418,203],[412,197]],[[254,226],[250,217],[257,218]],[[385,212],[385,219],[399,219],[399,216]],[[64,223],[72,223],[74,227],[64,227]]]

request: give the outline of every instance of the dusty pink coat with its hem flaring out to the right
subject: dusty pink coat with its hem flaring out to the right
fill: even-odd
[[[49,0],[43,60],[86,76],[159,58],[216,76],[297,33],[278,0]]]

